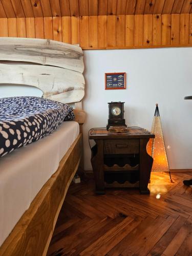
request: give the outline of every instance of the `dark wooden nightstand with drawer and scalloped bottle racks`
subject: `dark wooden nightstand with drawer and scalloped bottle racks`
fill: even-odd
[[[106,128],[90,131],[89,139],[96,143],[91,149],[96,194],[103,195],[105,187],[138,187],[141,194],[150,194],[147,185],[153,158],[146,152],[150,138],[155,135],[140,127],[130,127],[124,134]]]

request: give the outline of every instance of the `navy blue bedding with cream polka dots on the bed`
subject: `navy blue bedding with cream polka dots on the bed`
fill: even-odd
[[[40,97],[0,99],[0,157],[51,134],[74,119],[68,104]]]

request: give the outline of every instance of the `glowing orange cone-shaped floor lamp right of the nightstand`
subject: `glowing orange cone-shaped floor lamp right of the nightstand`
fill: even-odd
[[[153,157],[152,172],[168,172],[170,181],[172,177],[170,176],[170,169],[167,160],[167,154],[165,149],[165,143],[163,138],[163,131],[161,125],[161,118],[159,115],[158,104],[156,104],[155,115],[152,124],[152,133],[155,134],[154,139],[150,139],[147,144],[147,153]],[[173,181],[172,181],[173,182]]]

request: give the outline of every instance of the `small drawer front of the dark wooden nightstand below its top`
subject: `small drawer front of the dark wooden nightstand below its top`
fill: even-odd
[[[104,140],[104,154],[139,154],[139,139]]]

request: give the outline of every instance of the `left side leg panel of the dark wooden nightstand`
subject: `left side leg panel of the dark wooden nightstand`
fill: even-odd
[[[103,140],[95,140],[96,145],[92,147],[91,163],[93,167],[96,194],[104,195],[104,174],[103,174]]]

